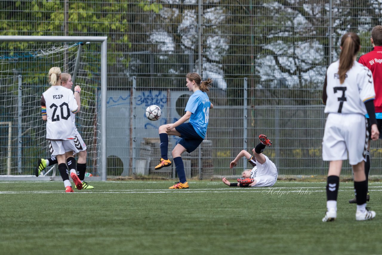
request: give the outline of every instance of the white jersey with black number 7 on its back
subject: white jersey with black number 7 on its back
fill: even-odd
[[[365,102],[374,100],[373,76],[369,68],[353,62],[346,72],[343,84],[340,84],[338,67],[340,61],[332,63],[327,72],[325,113],[362,114],[367,113]]]

